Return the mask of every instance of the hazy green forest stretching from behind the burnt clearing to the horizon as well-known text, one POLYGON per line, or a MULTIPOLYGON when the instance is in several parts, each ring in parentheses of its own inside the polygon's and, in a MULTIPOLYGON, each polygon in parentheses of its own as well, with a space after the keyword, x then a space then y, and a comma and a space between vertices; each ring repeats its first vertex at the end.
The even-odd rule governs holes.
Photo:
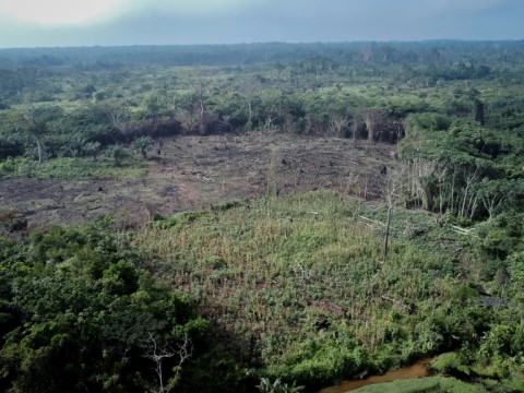
POLYGON ((1 159, 96 157, 107 145, 144 134, 252 129, 394 143, 404 133, 407 116, 421 112, 451 120, 473 118, 498 130, 519 130, 523 123, 520 41, 41 48, 2 53, 1 159), (237 52, 253 53, 255 60, 231 55, 237 52), (180 60, 184 53, 202 58, 180 60), (172 60, 164 63, 163 57, 172 60))

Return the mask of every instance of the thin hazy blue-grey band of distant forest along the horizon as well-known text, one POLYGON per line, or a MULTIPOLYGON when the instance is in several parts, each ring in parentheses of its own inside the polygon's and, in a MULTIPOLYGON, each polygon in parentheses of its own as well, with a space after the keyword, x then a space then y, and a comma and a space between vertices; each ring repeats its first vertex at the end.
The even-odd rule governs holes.
POLYGON ((360 41, 315 44, 235 44, 188 46, 128 46, 0 49, 0 67, 118 68, 122 66, 249 66, 290 63, 327 58, 338 66, 425 64, 450 62, 517 63, 524 57, 522 40, 511 41, 360 41))

